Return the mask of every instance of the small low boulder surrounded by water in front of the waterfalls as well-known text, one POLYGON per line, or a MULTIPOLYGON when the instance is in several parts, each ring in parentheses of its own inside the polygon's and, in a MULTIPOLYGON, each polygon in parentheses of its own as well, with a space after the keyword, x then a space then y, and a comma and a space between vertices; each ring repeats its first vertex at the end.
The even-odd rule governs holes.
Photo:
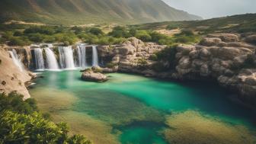
POLYGON ((89 82, 106 82, 107 75, 98 72, 100 69, 85 69, 85 72, 82 73, 82 80, 89 82))

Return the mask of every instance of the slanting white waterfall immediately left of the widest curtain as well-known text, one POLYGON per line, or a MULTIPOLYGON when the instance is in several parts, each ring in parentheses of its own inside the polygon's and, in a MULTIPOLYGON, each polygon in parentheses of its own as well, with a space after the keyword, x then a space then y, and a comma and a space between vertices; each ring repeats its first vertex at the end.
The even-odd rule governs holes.
POLYGON ((58 62, 56 60, 56 57, 53 53, 53 50, 51 50, 50 48, 45 48, 44 50, 46 52, 46 61, 47 61, 47 64, 48 64, 48 69, 58 70, 59 66, 58 66, 58 62))

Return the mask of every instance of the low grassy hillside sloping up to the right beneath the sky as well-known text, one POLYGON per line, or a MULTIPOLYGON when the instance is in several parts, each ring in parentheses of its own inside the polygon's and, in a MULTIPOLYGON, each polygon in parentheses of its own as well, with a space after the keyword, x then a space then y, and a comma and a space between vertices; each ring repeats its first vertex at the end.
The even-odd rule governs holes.
POLYGON ((166 21, 149 24, 137 24, 133 27, 142 30, 166 29, 168 26, 189 28, 204 33, 211 32, 256 32, 256 14, 239 14, 203 21, 166 21))

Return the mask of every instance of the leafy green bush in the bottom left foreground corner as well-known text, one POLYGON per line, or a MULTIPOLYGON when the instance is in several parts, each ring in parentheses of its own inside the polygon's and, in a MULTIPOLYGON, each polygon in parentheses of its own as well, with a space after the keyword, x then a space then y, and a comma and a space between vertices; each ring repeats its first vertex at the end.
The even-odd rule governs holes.
POLYGON ((66 123, 53 123, 41 114, 34 99, 20 94, 0 94, 0 143, 91 144, 82 135, 68 136, 66 123))

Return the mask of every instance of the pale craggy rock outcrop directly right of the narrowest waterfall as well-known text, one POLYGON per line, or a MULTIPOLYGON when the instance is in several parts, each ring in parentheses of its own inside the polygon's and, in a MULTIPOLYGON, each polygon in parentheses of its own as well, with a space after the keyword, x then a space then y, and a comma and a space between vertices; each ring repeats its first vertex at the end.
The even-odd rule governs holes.
POLYGON ((113 71, 140 73, 151 67, 153 61, 149 57, 165 47, 132 37, 120 45, 98 46, 98 51, 105 65, 113 71))

